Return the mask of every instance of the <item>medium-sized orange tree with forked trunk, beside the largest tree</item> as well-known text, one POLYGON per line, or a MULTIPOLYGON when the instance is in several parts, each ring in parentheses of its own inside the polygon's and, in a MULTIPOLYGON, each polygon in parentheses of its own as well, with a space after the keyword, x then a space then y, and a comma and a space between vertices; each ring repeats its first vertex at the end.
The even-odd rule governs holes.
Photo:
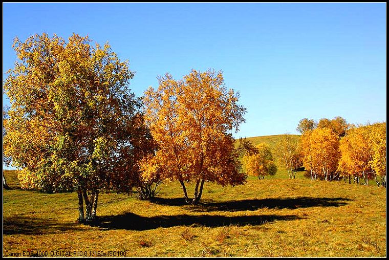
POLYGON ((200 200, 205 181, 243 184, 231 132, 244 122, 246 109, 225 88, 222 73, 192 70, 179 81, 169 74, 158 79, 158 89, 144 95, 146 123, 159 146, 142 165, 145 179, 159 174, 178 180, 187 202, 185 181, 195 181, 192 203, 200 200))

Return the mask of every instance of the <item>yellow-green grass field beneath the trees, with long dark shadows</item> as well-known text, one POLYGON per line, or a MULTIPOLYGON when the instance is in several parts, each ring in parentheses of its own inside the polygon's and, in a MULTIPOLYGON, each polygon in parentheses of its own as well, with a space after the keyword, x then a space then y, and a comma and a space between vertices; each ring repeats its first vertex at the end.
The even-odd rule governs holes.
MULTIPOLYGON (((154 257, 385 257, 386 189, 344 182, 250 177, 206 183, 200 205, 185 205, 178 183, 154 202, 102 194, 95 226, 78 224, 77 194, 21 190, 5 171, 3 256, 30 250, 125 251, 154 257)), ((192 193, 193 187, 188 189, 192 193)), ((89 255, 88 255, 89 256, 89 255)))

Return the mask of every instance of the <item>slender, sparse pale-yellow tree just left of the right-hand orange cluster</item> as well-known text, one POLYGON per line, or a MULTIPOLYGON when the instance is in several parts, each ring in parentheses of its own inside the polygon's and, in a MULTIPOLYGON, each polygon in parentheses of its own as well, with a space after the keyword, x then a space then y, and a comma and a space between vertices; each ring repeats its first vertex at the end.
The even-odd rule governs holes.
POLYGON ((295 179, 297 169, 301 167, 297 140, 293 140, 288 133, 280 137, 275 148, 275 155, 278 158, 279 165, 285 166, 288 171, 289 179, 295 179))

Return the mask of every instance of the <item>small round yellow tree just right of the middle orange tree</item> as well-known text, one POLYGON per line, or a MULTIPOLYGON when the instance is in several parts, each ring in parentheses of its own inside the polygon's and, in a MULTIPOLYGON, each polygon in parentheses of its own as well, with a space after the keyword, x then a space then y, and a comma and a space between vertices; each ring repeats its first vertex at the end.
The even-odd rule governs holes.
POLYGON ((245 155, 243 161, 246 165, 248 175, 256 176, 258 179, 265 179, 267 175, 275 175, 277 166, 274 163, 273 154, 269 145, 265 143, 256 146, 257 153, 245 155))

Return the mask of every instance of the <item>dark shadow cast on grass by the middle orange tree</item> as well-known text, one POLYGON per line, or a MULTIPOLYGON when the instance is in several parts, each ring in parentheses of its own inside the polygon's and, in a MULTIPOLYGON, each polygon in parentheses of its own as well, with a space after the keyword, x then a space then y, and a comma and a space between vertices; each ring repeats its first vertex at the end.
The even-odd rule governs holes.
POLYGON ((159 205, 168 206, 183 206, 187 205, 188 210, 194 212, 211 212, 211 211, 254 211, 260 208, 270 209, 297 209, 309 207, 339 207, 347 205, 347 201, 352 201, 348 198, 285 198, 285 199, 253 199, 253 200, 237 200, 226 202, 210 202, 203 201, 197 205, 188 205, 184 199, 174 198, 155 198, 152 202, 159 205))

